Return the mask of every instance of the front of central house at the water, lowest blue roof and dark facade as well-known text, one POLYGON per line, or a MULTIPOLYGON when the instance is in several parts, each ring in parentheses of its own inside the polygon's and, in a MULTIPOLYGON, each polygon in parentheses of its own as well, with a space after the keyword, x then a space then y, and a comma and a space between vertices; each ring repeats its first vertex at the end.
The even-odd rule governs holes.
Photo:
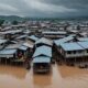
POLYGON ((51 58, 38 56, 33 59, 34 73, 48 73, 51 70, 51 58))

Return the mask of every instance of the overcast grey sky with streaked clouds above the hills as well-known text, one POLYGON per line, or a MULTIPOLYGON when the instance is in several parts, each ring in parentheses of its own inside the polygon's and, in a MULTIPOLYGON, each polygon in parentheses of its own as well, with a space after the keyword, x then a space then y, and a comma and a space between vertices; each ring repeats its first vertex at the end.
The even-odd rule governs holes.
POLYGON ((0 15, 88 15, 88 0, 0 0, 0 15))

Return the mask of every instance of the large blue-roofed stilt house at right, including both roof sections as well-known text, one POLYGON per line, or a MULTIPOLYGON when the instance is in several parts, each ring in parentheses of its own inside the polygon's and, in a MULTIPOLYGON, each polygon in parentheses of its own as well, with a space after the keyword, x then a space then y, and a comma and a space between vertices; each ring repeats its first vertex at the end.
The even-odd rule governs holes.
POLYGON ((88 42, 73 42, 61 45, 61 55, 66 64, 78 64, 88 62, 88 42))

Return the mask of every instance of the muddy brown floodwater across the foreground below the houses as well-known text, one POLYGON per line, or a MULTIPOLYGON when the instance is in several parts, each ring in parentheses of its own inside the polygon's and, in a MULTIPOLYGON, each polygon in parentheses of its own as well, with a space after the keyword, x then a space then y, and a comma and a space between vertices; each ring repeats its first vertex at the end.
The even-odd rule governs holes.
POLYGON ((88 88, 88 69, 53 65, 50 75, 34 75, 32 68, 0 65, 0 88, 88 88))

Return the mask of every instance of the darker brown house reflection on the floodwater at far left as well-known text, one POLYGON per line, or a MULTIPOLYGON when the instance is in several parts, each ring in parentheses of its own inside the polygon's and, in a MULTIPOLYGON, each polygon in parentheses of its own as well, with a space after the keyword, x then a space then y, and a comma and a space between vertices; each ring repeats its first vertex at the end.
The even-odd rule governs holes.
POLYGON ((0 75, 12 76, 18 79, 24 79, 26 77, 28 70, 22 67, 14 66, 3 66, 0 65, 0 75))

